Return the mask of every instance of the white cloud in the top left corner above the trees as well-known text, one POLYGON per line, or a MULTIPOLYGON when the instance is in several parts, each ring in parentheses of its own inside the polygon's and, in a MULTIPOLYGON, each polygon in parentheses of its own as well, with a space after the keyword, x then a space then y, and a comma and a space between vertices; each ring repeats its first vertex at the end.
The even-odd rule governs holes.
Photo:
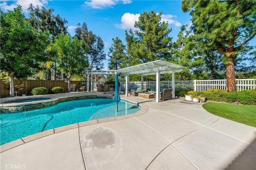
POLYGON ((13 2, 14 3, 12 3, 12 4, 7 4, 6 1, 2 2, 1 9, 2 10, 13 10, 14 8, 17 7, 17 5, 20 5, 20 6, 22 6, 22 10, 24 12, 28 12, 27 9, 28 9, 29 4, 33 4, 33 6, 39 6, 39 7, 48 4, 47 0, 16 0, 13 2))

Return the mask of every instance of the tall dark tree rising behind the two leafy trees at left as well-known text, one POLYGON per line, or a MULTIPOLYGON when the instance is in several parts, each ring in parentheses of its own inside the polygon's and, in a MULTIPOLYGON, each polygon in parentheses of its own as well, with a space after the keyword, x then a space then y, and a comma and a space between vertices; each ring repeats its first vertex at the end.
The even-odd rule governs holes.
MULTIPOLYGON (((53 14, 54 9, 46 9, 44 6, 33 6, 30 4, 28 8, 28 21, 38 31, 50 32, 50 38, 54 43, 58 34, 67 34, 67 28, 65 26, 68 23, 65 18, 62 19, 60 15, 53 14)), ((48 48, 51 49, 51 48, 48 48)), ((54 70, 54 80, 56 78, 56 55, 51 55, 52 51, 49 51, 48 61, 45 63, 45 67, 48 69, 47 79, 51 79, 51 70, 54 70)))

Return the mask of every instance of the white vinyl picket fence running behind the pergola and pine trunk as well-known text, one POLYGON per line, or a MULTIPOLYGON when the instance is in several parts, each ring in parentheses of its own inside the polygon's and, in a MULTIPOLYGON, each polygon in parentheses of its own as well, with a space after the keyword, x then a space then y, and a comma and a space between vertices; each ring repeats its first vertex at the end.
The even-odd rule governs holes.
MULTIPOLYGON (((209 91, 211 89, 226 90, 227 80, 188 80, 188 81, 175 81, 175 91, 180 90, 194 90, 194 91, 209 91)), ((129 82, 129 88, 141 88, 140 81, 129 82)), ((156 87, 156 81, 144 81, 143 88, 151 89, 156 87)), ((172 81, 160 81, 160 87, 172 88, 172 81)), ((252 90, 256 89, 256 79, 236 79, 236 90, 252 90)), ((125 91, 125 82, 120 82, 120 90, 125 91)))

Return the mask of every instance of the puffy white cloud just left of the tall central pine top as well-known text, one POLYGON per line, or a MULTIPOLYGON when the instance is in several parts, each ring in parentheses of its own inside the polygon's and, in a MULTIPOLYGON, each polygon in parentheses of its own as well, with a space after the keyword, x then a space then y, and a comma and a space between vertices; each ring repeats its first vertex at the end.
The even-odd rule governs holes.
POLYGON ((124 13, 121 18, 121 24, 115 24, 117 28, 121 28, 123 30, 132 29, 135 30, 134 23, 138 21, 140 14, 131 14, 131 13, 124 13))

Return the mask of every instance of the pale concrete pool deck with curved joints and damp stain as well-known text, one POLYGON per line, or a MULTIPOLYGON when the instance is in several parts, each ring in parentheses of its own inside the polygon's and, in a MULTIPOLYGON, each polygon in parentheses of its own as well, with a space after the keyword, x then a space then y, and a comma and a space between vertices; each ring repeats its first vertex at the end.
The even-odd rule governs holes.
MULTIPOLYGON (((92 93, 97 92, 87 94, 92 93)), ((48 130, 10 149, 2 145, 1 170, 256 169, 256 128, 212 115, 203 103, 184 98, 156 103, 120 97, 141 103, 146 113, 48 130)))

